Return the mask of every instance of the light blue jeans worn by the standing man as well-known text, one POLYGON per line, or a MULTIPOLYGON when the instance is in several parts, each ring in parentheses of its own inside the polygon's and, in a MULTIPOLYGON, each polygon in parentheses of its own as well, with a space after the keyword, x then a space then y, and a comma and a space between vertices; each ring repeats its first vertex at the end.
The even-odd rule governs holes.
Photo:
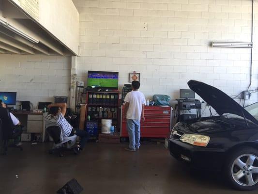
POLYGON ((140 146, 140 120, 127 119, 127 132, 129 135, 129 148, 140 146))

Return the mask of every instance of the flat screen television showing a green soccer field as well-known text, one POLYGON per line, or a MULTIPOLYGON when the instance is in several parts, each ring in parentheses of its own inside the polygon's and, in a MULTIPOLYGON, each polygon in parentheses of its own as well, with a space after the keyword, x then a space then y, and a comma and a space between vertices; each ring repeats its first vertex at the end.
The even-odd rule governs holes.
POLYGON ((88 71, 87 87, 95 89, 118 89, 118 72, 88 71))

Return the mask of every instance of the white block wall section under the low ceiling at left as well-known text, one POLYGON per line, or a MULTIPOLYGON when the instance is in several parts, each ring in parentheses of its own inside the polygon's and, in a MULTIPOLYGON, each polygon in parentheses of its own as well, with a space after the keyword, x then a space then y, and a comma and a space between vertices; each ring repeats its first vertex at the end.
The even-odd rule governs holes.
POLYGON ((36 109, 39 101, 69 96, 70 72, 71 57, 1 54, 0 91, 17 92, 36 109))

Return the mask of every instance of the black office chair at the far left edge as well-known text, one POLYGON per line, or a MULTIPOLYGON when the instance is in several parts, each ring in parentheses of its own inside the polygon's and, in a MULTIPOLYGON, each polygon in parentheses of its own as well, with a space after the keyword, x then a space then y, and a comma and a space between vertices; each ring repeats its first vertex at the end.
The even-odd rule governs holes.
POLYGON ((8 147, 16 147, 21 151, 23 150, 21 146, 16 146, 15 143, 8 144, 10 139, 15 139, 17 136, 21 135, 21 133, 16 132, 9 111, 6 108, 0 108, 0 131, 3 142, 3 155, 7 155, 8 147))

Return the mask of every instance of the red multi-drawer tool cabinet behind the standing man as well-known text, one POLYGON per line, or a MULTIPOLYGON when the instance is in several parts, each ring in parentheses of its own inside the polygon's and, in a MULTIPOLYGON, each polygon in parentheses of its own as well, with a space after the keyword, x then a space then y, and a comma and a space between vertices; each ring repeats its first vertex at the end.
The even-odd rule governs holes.
MULTIPOLYGON (((172 107, 145 106, 145 121, 141 122, 141 137, 165 138, 172 125, 172 107)), ((124 106, 121 106, 121 137, 128 137, 126 119, 123 118, 124 106)))

